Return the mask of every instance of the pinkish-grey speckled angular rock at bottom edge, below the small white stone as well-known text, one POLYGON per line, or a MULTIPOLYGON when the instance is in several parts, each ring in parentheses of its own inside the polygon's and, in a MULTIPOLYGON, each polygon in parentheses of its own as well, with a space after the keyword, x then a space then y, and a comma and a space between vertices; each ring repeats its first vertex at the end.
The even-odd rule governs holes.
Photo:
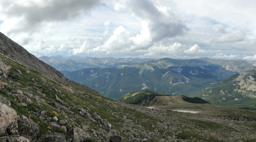
POLYGON ((88 141, 90 135, 79 127, 73 128, 73 142, 88 141))

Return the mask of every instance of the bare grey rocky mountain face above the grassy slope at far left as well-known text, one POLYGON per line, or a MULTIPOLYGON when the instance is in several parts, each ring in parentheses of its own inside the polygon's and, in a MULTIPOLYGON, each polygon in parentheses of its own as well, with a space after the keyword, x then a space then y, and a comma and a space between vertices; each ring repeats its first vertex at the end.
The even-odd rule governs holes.
POLYGON ((7 36, 0 32, 0 50, 9 54, 16 60, 22 61, 32 68, 35 68, 43 73, 49 74, 57 78, 65 78, 60 72, 56 71, 53 67, 45 62, 37 59, 34 55, 27 52, 22 46, 9 39, 7 36))

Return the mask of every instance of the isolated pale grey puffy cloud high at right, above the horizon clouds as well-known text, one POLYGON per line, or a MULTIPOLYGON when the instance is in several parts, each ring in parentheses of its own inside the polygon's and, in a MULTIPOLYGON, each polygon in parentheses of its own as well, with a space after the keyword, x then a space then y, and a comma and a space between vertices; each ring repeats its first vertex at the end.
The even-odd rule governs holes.
POLYGON ((212 39, 215 43, 234 43, 243 41, 246 32, 241 29, 235 29, 233 31, 226 31, 221 25, 215 25, 216 37, 212 39))

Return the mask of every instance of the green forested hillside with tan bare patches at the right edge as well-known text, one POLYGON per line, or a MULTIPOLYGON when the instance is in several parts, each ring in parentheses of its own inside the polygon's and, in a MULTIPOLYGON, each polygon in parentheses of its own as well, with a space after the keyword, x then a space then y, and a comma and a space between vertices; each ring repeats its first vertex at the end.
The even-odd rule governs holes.
POLYGON ((240 72, 191 96, 201 97, 220 106, 255 109, 256 70, 240 72))

